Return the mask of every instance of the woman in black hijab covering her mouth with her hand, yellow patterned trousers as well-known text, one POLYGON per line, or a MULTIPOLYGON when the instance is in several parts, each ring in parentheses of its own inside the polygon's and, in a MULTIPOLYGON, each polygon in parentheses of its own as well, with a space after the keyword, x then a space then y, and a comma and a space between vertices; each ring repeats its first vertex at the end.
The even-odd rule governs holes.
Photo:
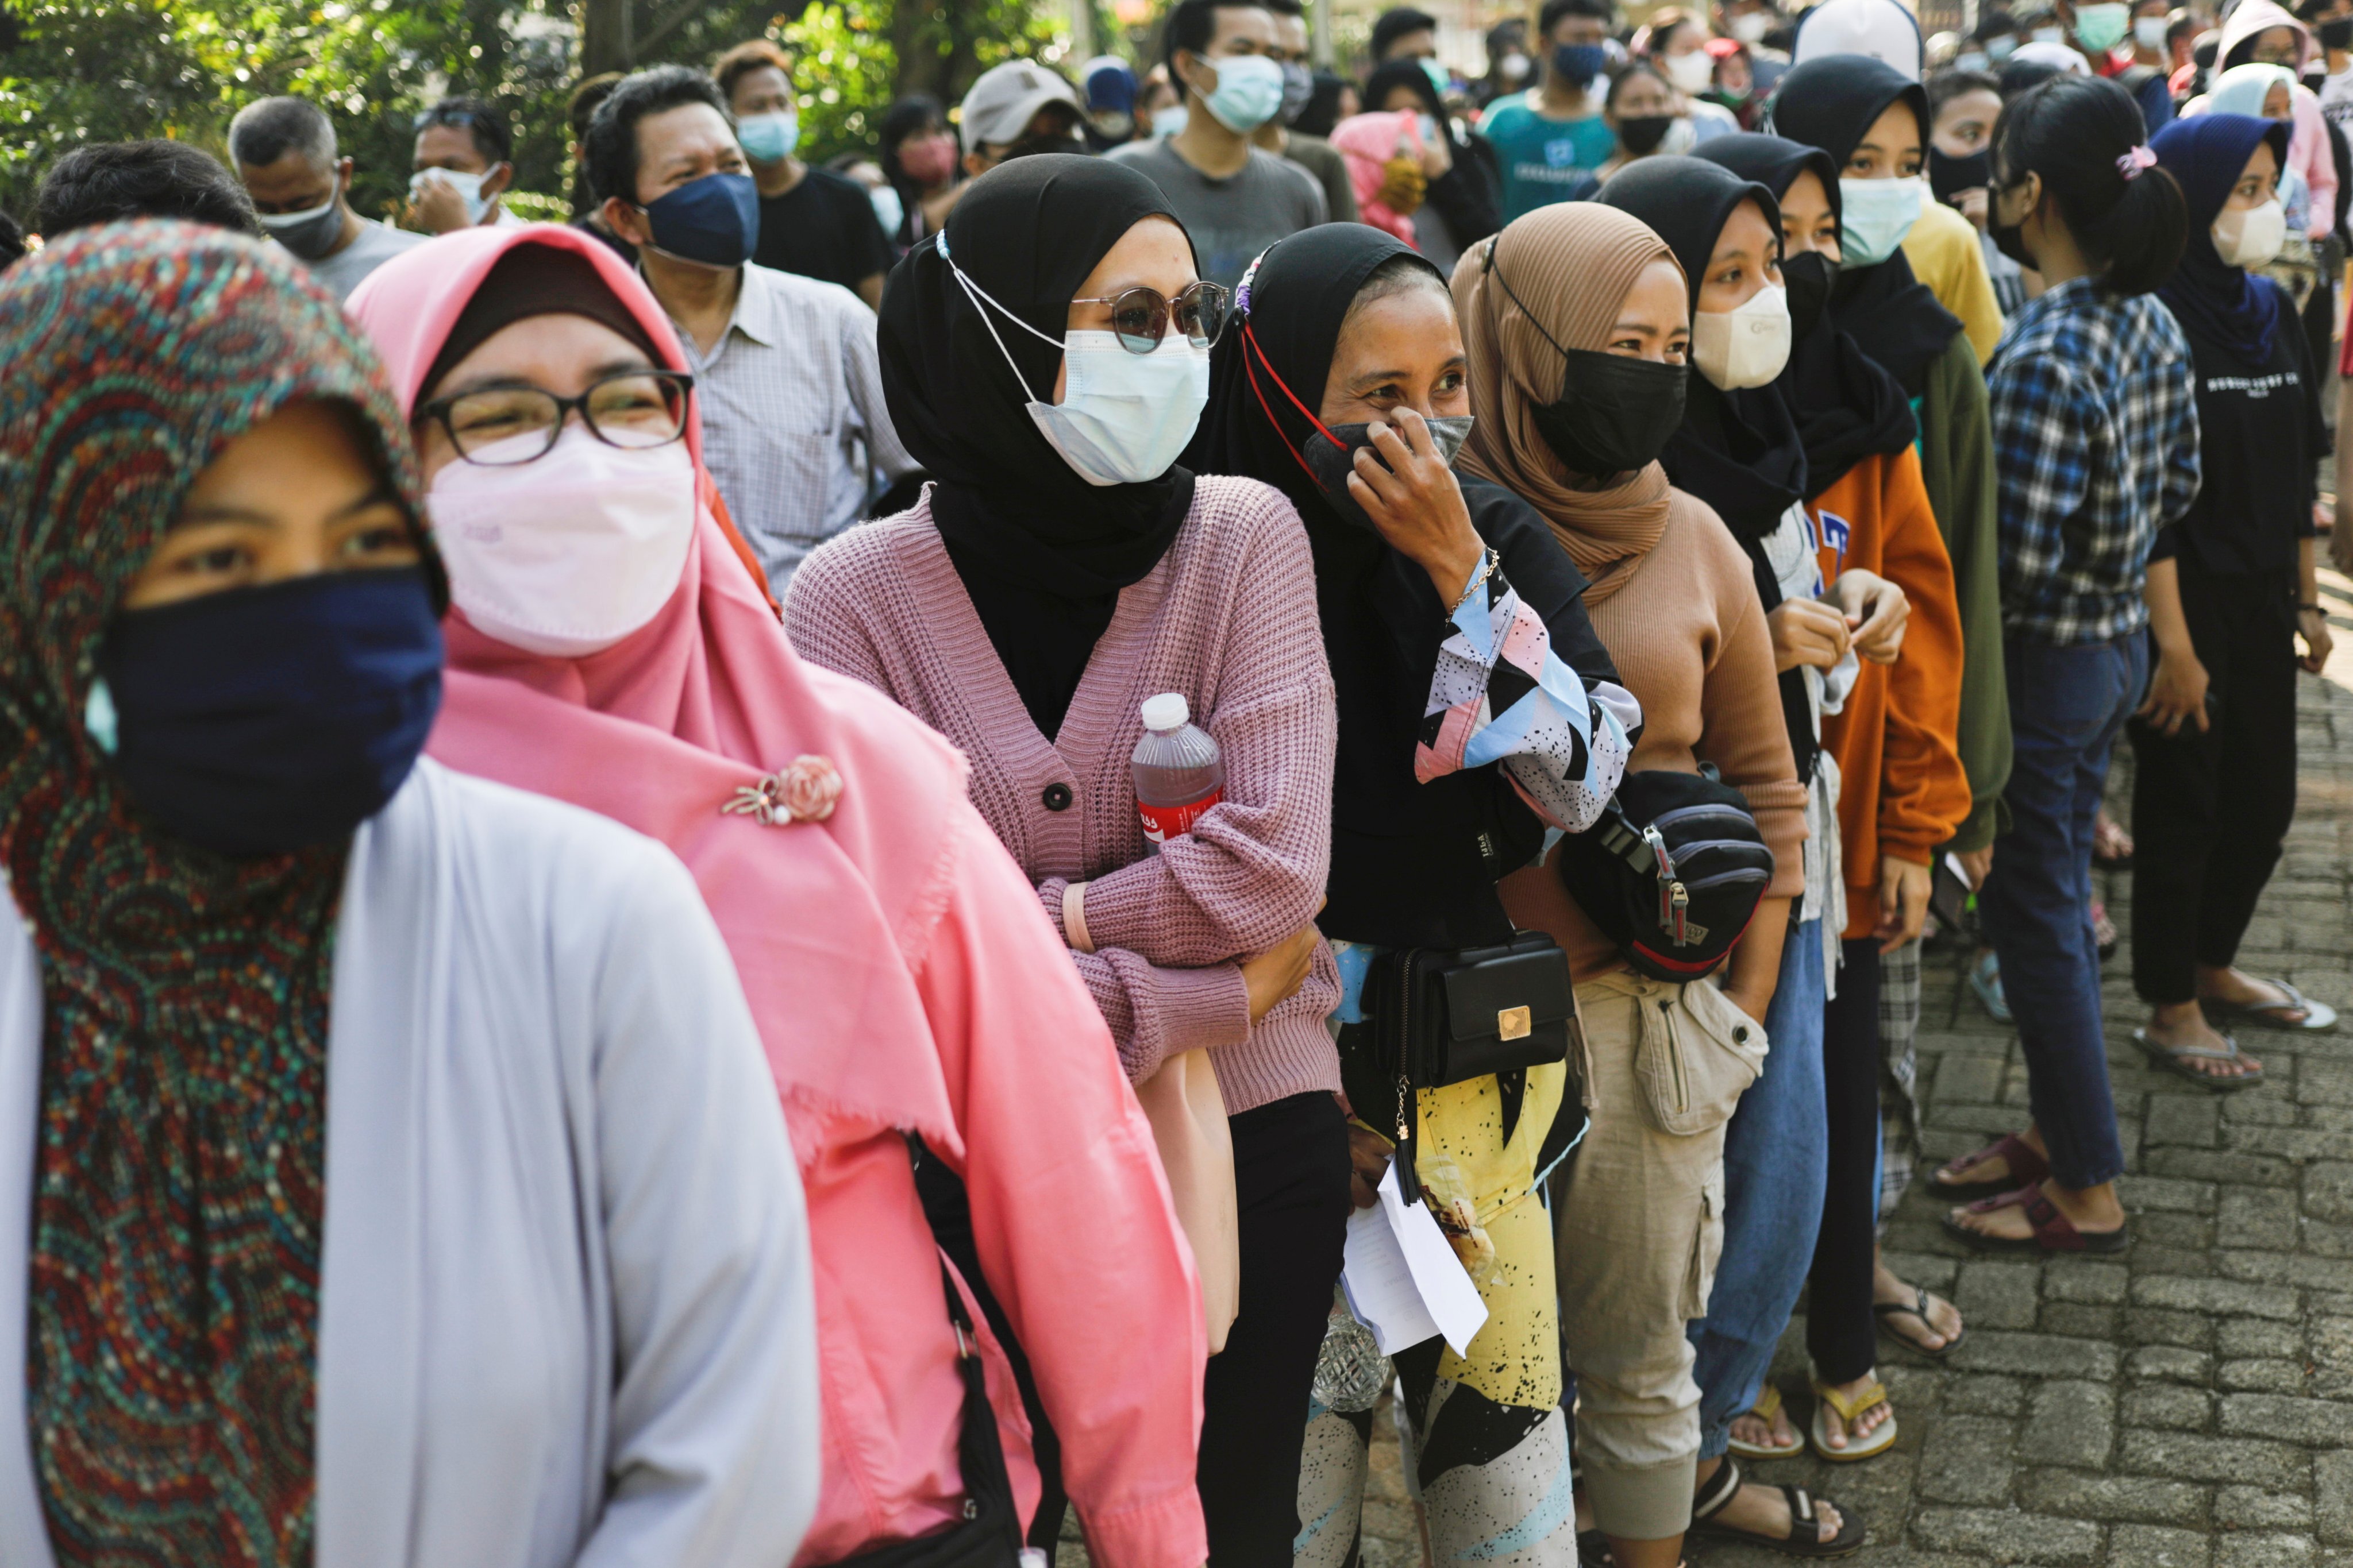
MULTIPOLYGON (((1384 1107, 1395 1088, 1360 1072, 1384 1025, 1367 971, 1384 952, 1513 940, 1497 877, 1527 865, 1548 827, 1593 825, 1640 712, 1579 604, 1584 578, 1544 520, 1447 465, 1473 421, 1438 268, 1374 228, 1327 223, 1259 256, 1242 294, 1240 320, 1217 346, 1202 465, 1287 494, 1315 557, 1341 712, 1318 926, 1348 978, 1341 1053, 1360 1091, 1348 1135, 1362 1173, 1355 1199, 1372 1206, 1391 1159, 1395 1117, 1384 1107), (1454 738, 1440 757, 1424 736, 1447 712, 1466 722, 1447 724, 1454 738)), ((1565 1084, 1555 1060, 1414 1091, 1419 1159, 1400 1175, 1417 1168, 1421 1187, 1445 1199, 1447 1222, 1466 1222, 1492 1248, 1478 1272, 1487 1321, 1464 1352, 1428 1340, 1395 1356, 1438 1561, 1480 1552, 1501 1530, 1518 1547, 1485 1549, 1489 1561, 1572 1552, 1544 1201, 1544 1173, 1584 1126, 1565 1084)), ((1369 1408, 1318 1418, 1304 1563, 1348 1559, 1369 1434, 1369 1408)))

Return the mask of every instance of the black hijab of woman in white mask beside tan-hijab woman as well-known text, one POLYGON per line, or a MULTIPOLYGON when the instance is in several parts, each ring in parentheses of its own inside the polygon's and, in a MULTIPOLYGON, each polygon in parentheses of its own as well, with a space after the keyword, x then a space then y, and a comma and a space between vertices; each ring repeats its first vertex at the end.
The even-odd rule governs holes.
MULTIPOLYGON (((1642 219, 1666 240, 1692 284, 1694 317, 1708 259, 1715 256, 1715 242, 1741 202, 1755 202, 1774 235, 1781 233, 1781 202, 1769 186, 1699 158, 1633 162, 1602 186, 1595 200, 1642 219)), ((1692 369, 1682 425, 1668 437, 1659 461, 1675 489, 1715 508, 1741 541, 1765 609, 1781 604, 1781 578, 1765 555, 1765 541, 1781 527, 1788 508, 1807 496, 1807 465, 1798 421, 1779 386, 1725 393, 1692 369)), ((1819 748, 1802 670, 1781 672, 1781 722, 1788 729, 1798 778, 1809 780, 1819 748)))

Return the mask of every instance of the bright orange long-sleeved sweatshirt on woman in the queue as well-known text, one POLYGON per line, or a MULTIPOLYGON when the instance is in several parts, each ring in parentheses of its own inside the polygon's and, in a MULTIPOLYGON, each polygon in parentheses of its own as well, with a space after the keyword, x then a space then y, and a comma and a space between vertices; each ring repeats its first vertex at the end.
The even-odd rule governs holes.
POLYGON ((1807 501, 1821 578, 1878 571, 1911 599, 1904 654, 1866 663, 1847 705, 1821 722, 1838 757, 1838 835, 1847 863, 1847 938, 1880 919, 1880 856, 1934 865, 1969 816, 1960 766, 1960 609, 1953 562, 1920 484, 1920 454, 1864 458, 1807 501))

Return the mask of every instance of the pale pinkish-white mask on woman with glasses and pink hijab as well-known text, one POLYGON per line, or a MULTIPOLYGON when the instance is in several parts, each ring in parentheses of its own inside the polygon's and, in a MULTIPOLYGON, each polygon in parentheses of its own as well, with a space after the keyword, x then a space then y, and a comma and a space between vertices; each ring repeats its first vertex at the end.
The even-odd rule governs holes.
POLYGON ((449 597, 475 628, 527 654, 581 658, 642 628, 678 592, 694 538, 694 458, 685 442, 607 447, 572 423, 534 463, 449 463, 426 515, 449 597))

